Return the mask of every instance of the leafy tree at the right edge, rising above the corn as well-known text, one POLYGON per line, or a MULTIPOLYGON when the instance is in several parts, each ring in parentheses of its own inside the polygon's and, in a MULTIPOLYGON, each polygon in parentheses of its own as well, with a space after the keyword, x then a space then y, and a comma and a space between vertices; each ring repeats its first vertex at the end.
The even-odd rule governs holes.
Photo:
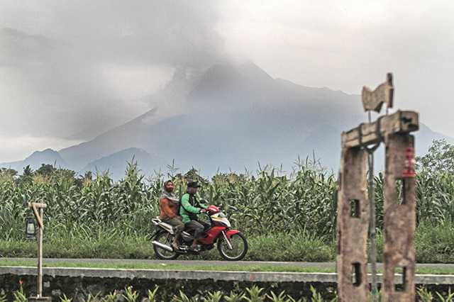
POLYGON ((416 157, 416 167, 428 172, 454 172, 454 145, 446 140, 433 140, 428 153, 416 157))

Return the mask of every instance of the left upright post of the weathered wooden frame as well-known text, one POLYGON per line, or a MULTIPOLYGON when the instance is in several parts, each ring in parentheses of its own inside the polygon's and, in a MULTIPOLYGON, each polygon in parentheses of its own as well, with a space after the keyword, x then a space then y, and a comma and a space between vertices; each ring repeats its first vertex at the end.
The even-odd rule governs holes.
POLYGON ((343 148, 338 191, 338 295, 339 301, 367 301, 367 152, 343 148))

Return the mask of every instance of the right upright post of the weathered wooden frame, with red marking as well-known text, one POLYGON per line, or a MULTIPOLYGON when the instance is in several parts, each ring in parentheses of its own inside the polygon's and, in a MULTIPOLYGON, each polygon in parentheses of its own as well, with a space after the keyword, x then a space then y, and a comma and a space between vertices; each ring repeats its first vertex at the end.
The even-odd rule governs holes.
POLYGON ((414 136, 388 135, 384 179, 383 301, 415 301, 414 136), (399 276, 394 284, 394 276, 399 276), (401 283, 401 284, 399 284, 401 283))

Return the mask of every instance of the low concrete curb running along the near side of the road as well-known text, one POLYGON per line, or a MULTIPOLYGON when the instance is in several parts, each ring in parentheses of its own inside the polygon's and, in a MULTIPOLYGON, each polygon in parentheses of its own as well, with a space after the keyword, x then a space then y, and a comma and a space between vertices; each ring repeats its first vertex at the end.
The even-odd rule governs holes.
MULTIPOLYGON (((0 275, 35 276, 35 267, 0 267, 0 275)), ((252 282, 321 282, 336 283, 336 273, 300 272, 228 272, 228 271, 182 271, 160 269, 93 269, 45 267, 43 274, 69 277, 120 278, 120 279, 180 279, 252 282)), ((381 279, 381 274, 379 274, 381 279)), ((396 279, 397 283, 399 279, 396 279)), ((417 274, 416 284, 454 285, 454 275, 417 274)))

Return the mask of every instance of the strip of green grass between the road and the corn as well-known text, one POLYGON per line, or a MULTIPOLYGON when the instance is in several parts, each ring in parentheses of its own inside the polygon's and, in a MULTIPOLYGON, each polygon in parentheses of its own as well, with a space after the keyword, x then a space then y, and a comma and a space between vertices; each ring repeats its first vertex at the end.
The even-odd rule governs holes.
MULTIPOLYGON (((421 223, 416 228, 415 247, 418 263, 454 263, 454 225, 421 223)), ((45 234, 46 236, 47 234, 45 234)), ((333 262, 336 259, 336 242, 323 240, 310 233, 270 233, 248 235, 249 250, 246 261, 277 262, 333 262)), ((48 258, 105 258, 155 259, 147 235, 123 235, 104 229, 96 233, 60 232, 45 237, 44 255, 48 258)), ((377 235, 378 261, 382 261, 383 235, 377 235)), ((0 240, 3 257, 35 257, 36 242, 28 240, 0 240)), ((179 259, 218 260, 216 247, 199 256, 179 259)))

